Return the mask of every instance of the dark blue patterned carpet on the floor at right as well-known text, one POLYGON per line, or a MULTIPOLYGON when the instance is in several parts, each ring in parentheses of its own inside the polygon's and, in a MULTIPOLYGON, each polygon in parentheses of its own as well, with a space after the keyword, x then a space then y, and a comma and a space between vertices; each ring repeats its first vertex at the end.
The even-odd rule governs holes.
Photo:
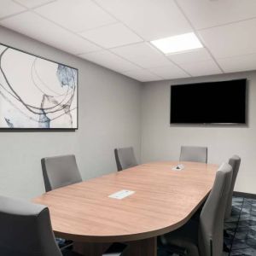
MULTIPOLYGON (((256 256, 256 200, 233 197, 231 217, 224 223, 230 253, 223 256, 256 256)), ((159 248, 158 256, 174 256, 159 248)))

